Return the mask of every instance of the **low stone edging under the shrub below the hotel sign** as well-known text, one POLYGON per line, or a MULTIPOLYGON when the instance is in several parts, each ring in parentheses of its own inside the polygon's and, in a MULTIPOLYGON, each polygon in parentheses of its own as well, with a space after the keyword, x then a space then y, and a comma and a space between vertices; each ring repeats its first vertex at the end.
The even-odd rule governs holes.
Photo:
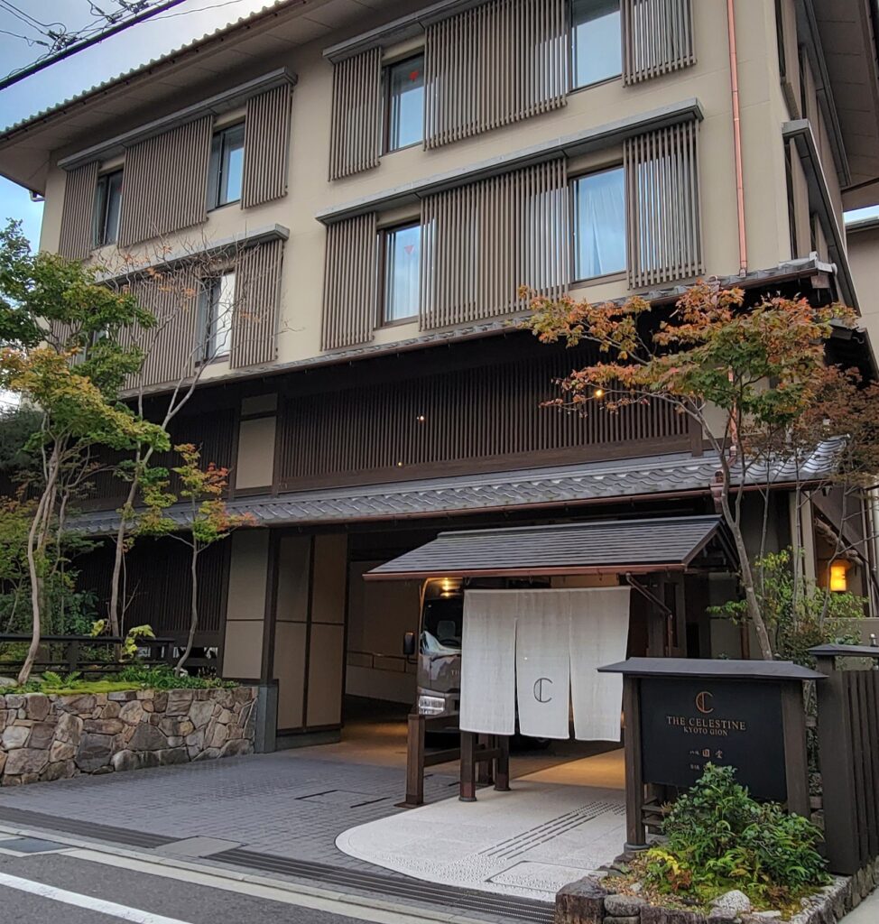
MULTIPOLYGON (((836 924, 879 886, 879 860, 856 876, 836 877, 809 899, 790 924, 836 924)), ((752 911, 746 895, 728 892, 712 902, 710 914, 661 908, 641 896, 615 894, 602 879, 587 877, 555 896, 555 924, 773 924, 777 911, 752 911)))

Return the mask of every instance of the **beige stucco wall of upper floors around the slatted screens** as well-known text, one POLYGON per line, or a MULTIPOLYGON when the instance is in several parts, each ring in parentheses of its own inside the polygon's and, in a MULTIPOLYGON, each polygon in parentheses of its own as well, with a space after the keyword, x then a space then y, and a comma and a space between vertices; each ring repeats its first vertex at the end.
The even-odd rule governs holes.
MULTIPOLYGON (((657 107, 681 103, 696 97, 705 119, 700 132, 702 214, 705 268, 708 274, 734 274, 739 269, 736 220, 736 187, 732 146, 726 5, 694 3, 697 64, 662 78, 633 87, 621 79, 576 91, 568 105, 552 113, 535 116, 507 128, 500 128, 468 140, 425 152, 420 147, 386 154, 380 166, 336 182, 327 179, 330 136, 330 98, 333 68, 322 55, 324 47, 366 31, 423 3, 398 4, 380 17, 364 10, 357 30, 339 32, 319 43, 303 45, 287 55, 251 64, 247 76, 264 73, 280 64, 298 75, 293 94, 290 134, 289 193, 284 199, 242 211, 238 205, 215 210, 206 223, 168 241, 170 246, 195 247, 265 225, 284 225, 290 230, 285 248, 283 305, 279 359, 305 359, 319 353, 323 291, 324 226, 315 213, 330 206, 353 201, 409 181, 446 171, 499 154, 514 152, 532 144, 553 140, 581 129, 601 126, 626 116, 657 107)), ((787 197, 784 151, 780 138, 782 122, 789 118, 779 84, 775 47, 775 6, 772 0, 738 0, 739 81, 742 137, 744 143, 745 208, 751 268, 775 266, 789 256, 787 197)), ((390 46, 385 55, 399 49, 390 46)), ((229 75, 229 84, 242 75, 229 75)), ((217 91, 219 87, 213 88, 217 91)), ((179 103, 188 102, 180 99, 179 103)), ((148 117, 160 115, 152 111, 148 117)), ((118 130, 107 126, 107 136, 118 130)), ((93 144, 90 137, 83 144, 93 144)), ((57 152, 59 156, 75 150, 57 152)), ((617 159, 617 152, 591 157, 593 164, 617 159)), ((55 169, 49 178, 42 246, 55 249, 59 234, 59 213, 63 199, 63 178, 55 169)), ((154 249, 154 244, 142 249, 154 249)), ((526 282, 527 280, 522 280, 526 282)), ((575 294, 604 299, 625 296, 624 281, 585 286, 575 294)), ((391 343, 418 333, 417 324, 404 324, 376 332, 376 343, 391 343)), ((212 366, 206 378, 222 376, 223 364, 212 366)))

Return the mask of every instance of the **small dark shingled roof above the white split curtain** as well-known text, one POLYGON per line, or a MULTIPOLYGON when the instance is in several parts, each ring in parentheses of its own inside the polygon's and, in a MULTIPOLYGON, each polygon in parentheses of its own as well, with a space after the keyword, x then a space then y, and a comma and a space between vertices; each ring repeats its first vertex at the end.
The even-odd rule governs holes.
POLYGON ((402 580, 683 571, 720 529, 720 517, 664 517, 443 532, 363 577, 402 580))

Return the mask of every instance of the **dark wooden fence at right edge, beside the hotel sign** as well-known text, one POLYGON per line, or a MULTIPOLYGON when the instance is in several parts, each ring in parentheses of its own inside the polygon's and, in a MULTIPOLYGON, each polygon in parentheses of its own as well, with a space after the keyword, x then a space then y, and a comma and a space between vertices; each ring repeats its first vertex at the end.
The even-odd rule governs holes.
POLYGON ((812 649, 818 670, 818 755, 832 872, 879 857, 879 648, 812 649))

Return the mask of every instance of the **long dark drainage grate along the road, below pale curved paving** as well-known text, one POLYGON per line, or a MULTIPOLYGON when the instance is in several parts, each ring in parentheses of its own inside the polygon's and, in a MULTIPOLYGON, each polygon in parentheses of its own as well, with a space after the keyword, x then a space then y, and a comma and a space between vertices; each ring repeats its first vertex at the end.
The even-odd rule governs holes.
POLYGON ((477 892, 471 889, 455 889, 435 882, 406 878, 392 879, 358 869, 327 866, 308 860, 294 860, 274 857, 252 850, 226 850, 214 854, 214 862, 235 866, 262 869, 265 872, 283 873, 299 879, 317 880, 325 885, 336 885, 347 889, 382 894, 385 897, 404 898, 427 905, 455 908, 458 911, 473 911, 510 921, 529 921, 530 924, 551 924, 555 906, 549 902, 538 902, 527 898, 477 892))

